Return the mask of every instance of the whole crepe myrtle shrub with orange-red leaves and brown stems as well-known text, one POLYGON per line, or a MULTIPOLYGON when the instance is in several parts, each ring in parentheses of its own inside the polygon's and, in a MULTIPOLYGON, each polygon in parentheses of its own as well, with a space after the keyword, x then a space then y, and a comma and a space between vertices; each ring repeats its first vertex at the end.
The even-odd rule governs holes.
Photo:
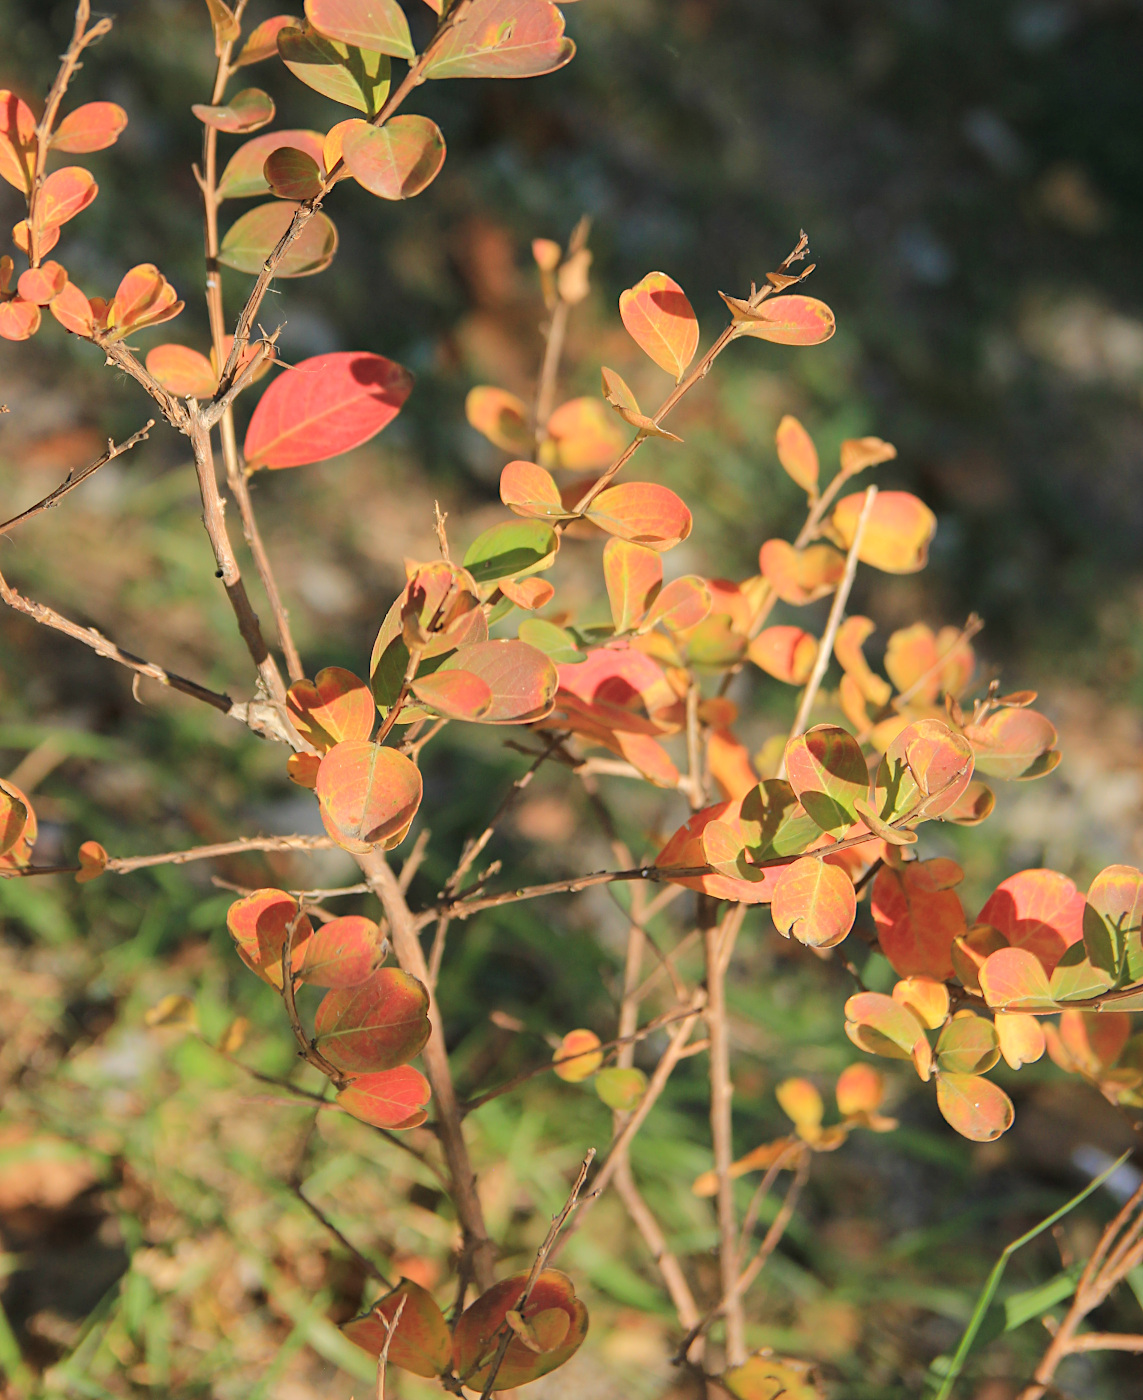
MULTIPOLYGON (((157 263, 127 269, 105 297, 81 290, 52 256, 64 225, 97 196, 91 174, 67 162, 113 144, 127 122, 113 102, 66 104, 81 57, 111 21, 92 24, 88 0, 80 0, 46 99, 0 92, 0 176, 27 200, 27 217, 13 230, 15 256, 0 258, 0 335, 35 336, 46 311, 134 379, 155 413, 3 528, 11 533, 56 505, 162 419, 190 445, 212 567, 249 651, 252 692, 234 700, 136 657, 3 577, 0 596, 126 666, 136 683, 168 686, 280 745, 284 770, 312 791, 326 832, 237 833, 233 841, 158 855, 109 855, 85 841, 76 865, 49 867, 35 860, 31 801, 0 783, 0 874, 67 869, 83 883, 240 850, 336 846, 353 855, 360 883, 319 893, 247 890, 227 923, 242 962, 280 993, 298 1054, 331 1081, 338 1109, 385 1133, 430 1121, 419 1141, 429 1142, 424 1151, 450 1183, 459 1226, 457 1289, 445 1315, 430 1292, 403 1280, 346 1326, 380 1358, 380 1387, 387 1364, 437 1376, 457 1394, 483 1396, 564 1364, 588 1322, 574 1281, 552 1264, 569 1231, 614 1187, 677 1310, 679 1364, 719 1378, 744 1400, 814 1396, 817 1380, 805 1365, 748 1354, 747 1292, 796 1210, 815 1154, 839 1149, 856 1130, 888 1131, 894 1121, 881 1113, 881 1072, 860 1058, 833 1086, 835 1121, 825 1121, 818 1085, 787 1079, 777 1099, 791 1131, 735 1159, 726 981, 747 909, 766 906, 775 937, 843 960, 859 990, 839 1018, 856 1049, 910 1064, 933 1084, 952 1130, 989 1141, 1013 1121, 1011 1100, 988 1078, 1002 1057, 1016 1070, 1046 1049, 1112 1102, 1143 1107, 1143 1037, 1132 1035, 1130 1022, 1143 1009, 1143 875, 1114 865, 1084 893, 1062 874, 1023 871, 969 917, 957 892, 961 868, 922 854, 926 823, 983 822, 993 808, 990 783, 1037 778, 1060 755, 1051 722, 1031 708, 1034 694, 1002 694, 997 683, 975 680, 975 617, 960 629, 903 627, 888 638, 884 675, 867 662, 863 647, 874 622, 847 612, 859 567, 912 574, 924 567, 936 529, 916 496, 857 483, 896 455, 891 444, 877 437, 843 442, 836 470, 824 480, 810 435, 784 417, 777 458, 805 493, 797 536, 761 542, 749 578, 664 580, 663 556, 691 533, 691 512, 668 487, 639 480, 635 459, 653 438, 667 451, 679 441, 665 426, 674 407, 738 342, 812 347, 833 335, 831 309, 800 290, 812 272, 804 234, 749 291, 721 294, 728 321, 702 353, 695 312, 670 276, 651 272, 622 294, 623 326, 665 375, 653 410, 608 367, 600 396, 557 402, 569 316, 587 295, 591 255, 586 225, 567 246, 538 239, 532 252, 546 322, 535 395, 525 403, 483 385, 466 402, 471 424, 507 458, 504 519, 457 559, 438 512, 440 557, 406 563, 405 587, 360 673, 324 666, 321 657, 303 662, 258 529, 249 476, 301 468, 373 438, 401 412, 413 377, 364 351, 283 367, 277 332, 255 329, 263 298, 276 279, 319 273, 333 259, 338 232, 325 204, 340 181, 388 200, 431 185, 445 158, 444 136, 429 118, 405 111, 423 83, 539 76, 574 53, 549 0, 426 3, 431 14, 412 0, 406 7, 305 0, 304 18, 277 15, 247 32, 245 0, 206 0, 217 73, 206 101, 192 108, 203 140, 195 178, 205 216, 205 346, 169 342, 140 357, 129 344, 182 309, 157 263), (424 35, 420 49, 413 32, 424 35), (277 62, 331 99, 328 130, 254 134, 273 122, 275 104, 240 84, 248 67, 277 62), (235 202, 251 199, 252 209, 231 216, 235 202), (252 279, 237 316, 227 315, 220 266, 252 279), (262 389, 240 448, 235 400, 272 371, 277 375, 262 389), (269 638, 238 566, 223 491, 237 505, 269 601, 269 638), (548 578, 572 536, 600 545, 597 577, 611 612, 605 626, 563 608, 548 578), (821 636, 770 622, 779 602, 797 609, 826 598, 821 636), (840 679, 826 690, 831 662, 840 679), (756 755, 735 732, 738 707, 728 697, 742 671, 791 696, 789 734, 756 755), (417 907, 409 889, 427 834, 401 868, 391 853, 422 809, 420 757, 448 724, 513 727, 525 739, 513 746, 527 750, 531 764, 466 840, 437 896, 417 907), (545 764, 583 784, 615 853, 614 868, 529 888, 501 881, 496 865, 478 872, 497 825, 545 764), (600 774, 678 795, 678 829, 651 858, 636 860, 616 834, 600 774), (602 1042, 591 1029, 573 1028, 553 1061, 532 1071, 553 1070, 569 1085, 590 1082, 614 1110, 612 1138, 597 1165, 588 1155, 532 1268, 499 1278, 464 1120, 518 1079, 459 1102, 436 1000, 445 941, 452 925, 480 910, 612 882, 630 885, 614 1035, 602 1042), (375 899, 375 917, 336 916, 328 907, 340 895, 360 893, 375 899), (871 918, 854 931, 863 900, 871 918), (674 918, 668 927, 677 934, 665 955, 647 932, 658 916, 674 918), (866 945, 880 949, 898 979, 889 994, 861 984, 853 958, 866 945), (850 948, 857 953, 850 956, 850 948), (689 949, 705 958, 699 984, 681 972, 689 949), (326 990, 310 1026, 297 1005, 303 983, 326 990), (656 1032, 665 1035, 665 1049, 646 1074, 635 1065, 635 1049, 656 1032), (713 1294, 709 1277, 689 1275, 672 1252, 629 1161, 632 1140, 671 1072, 695 1054, 709 1065, 713 1166, 693 1190, 714 1200, 713 1294), (423 1070, 413 1065, 417 1058, 423 1070), (733 1183, 752 1172, 763 1175, 740 1218, 733 1183), (755 1243, 762 1201, 783 1172, 784 1204, 755 1243), (475 1299, 465 1306, 471 1291, 475 1299), (707 1336, 713 1326, 717 1344, 707 1336)), ((233 1057, 240 1046, 241 1032, 231 1030, 217 1049, 233 1057)))

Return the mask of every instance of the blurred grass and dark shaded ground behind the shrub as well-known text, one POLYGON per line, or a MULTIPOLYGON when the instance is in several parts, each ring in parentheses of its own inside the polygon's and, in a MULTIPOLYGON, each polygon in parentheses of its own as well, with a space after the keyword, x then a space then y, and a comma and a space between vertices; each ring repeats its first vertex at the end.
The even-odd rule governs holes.
MULTIPOLYGON (((206 6, 101 8, 115 28, 71 97, 116 101, 130 125, 116 147, 84 158, 101 197, 67 227, 60 256, 102 295, 132 265, 158 262, 188 305, 140 336, 141 349, 174 339, 206 350, 190 172, 200 129, 189 113, 213 77, 206 6)), ((275 10, 251 0, 248 15, 275 10)), ((409 11, 415 25, 429 20, 423 6, 409 11)), ((69 4, 0 0, 0 85, 45 92, 70 24, 69 4)), ((436 553, 434 498, 461 543, 501 518, 504 455, 468 427, 464 396, 479 382, 531 392, 542 319, 532 238, 563 241, 580 216, 593 220, 593 294, 573 319, 563 396, 597 392, 607 363, 656 402, 663 375, 625 336, 619 291, 668 272, 709 339, 724 319, 717 293, 745 294, 805 228, 818 265, 808 290, 833 307, 838 335, 803 351, 735 346, 672 420, 685 447, 644 449, 695 511, 671 567, 741 578, 756 571, 762 540, 797 529, 798 493, 773 452, 783 413, 807 424, 826 469, 846 437, 895 442, 899 458, 878 480, 923 496, 938 532, 926 573, 859 580, 856 609, 878 620, 881 645, 916 619, 937 627, 979 612, 982 676, 1038 689, 1065 750, 1052 777, 1002 791, 986 827, 940 837, 967 869, 969 913, 1024 867, 1086 883, 1112 861, 1137 864, 1143 6, 581 0, 567 24, 579 55, 555 76, 422 88, 413 109, 448 140, 440 178, 406 204, 339 186, 333 266, 279 283, 265 304, 290 360, 361 349, 417 375, 374 444, 255 479, 311 673, 364 668, 402 560, 436 553)), ((345 116, 280 64, 244 70, 234 87, 249 83, 275 97, 277 126, 325 130, 345 116)), ((247 207, 224 206, 224 224, 247 207)), ((18 217, 4 185, 0 224, 18 217)), ((226 273, 224 286, 233 315, 248 279, 226 273)), ((130 384, 52 321, 27 344, 0 343, 0 402, 10 409, 3 515, 148 416, 130 384)), ((199 515, 181 440, 155 430, 6 539, 0 557, 31 596, 244 694, 248 668, 199 515)), ((569 549, 562 568, 584 603, 600 591, 591 546, 569 549)), ((0 668, 0 771, 35 788, 38 860, 71 860, 87 837, 133 854, 312 829, 312 801, 286 781, 280 755, 189 701, 144 683, 137 704, 125 672, 7 613, 0 668)), ((794 701, 775 683, 744 685, 737 699, 756 745, 789 727, 794 701)), ((521 771, 503 738, 447 732, 429 763, 420 897, 482 825, 487 794, 521 771)), ((570 780, 556 774, 531 792, 490 851, 508 869, 553 878, 611 858, 570 780)), ((608 795, 636 855, 682 819, 658 792, 608 795)), ((242 1014, 249 1063, 290 1071, 280 1008, 233 955, 234 896, 212 874, 240 885, 352 878, 326 853, 160 868, 83 890, 67 879, 0 888, 0 1368, 13 1396, 360 1392, 371 1368, 335 1324, 375 1285, 298 1204, 298 1175, 360 1249, 447 1294, 452 1225, 412 1158, 336 1114, 312 1128, 193 1035, 146 1026, 162 995, 186 994, 207 1035, 242 1014)), ((543 1060, 545 1035, 608 1030, 623 927, 609 896, 584 895, 454 934, 443 998, 465 1086, 543 1060), (490 1023, 493 1008, 527 1029, 490 1023)), ((775 946, 761 917, 744 935, 741 972, 745 1151, 784 1131, 775 1082, 800 1072, 829 1085, 853 1051, 840 1032, 843 976, 775 946)), ((712 1215, 686 1186, 710 1151, 705 1071, 688 1065, 635 1161, 702 1275, 712 1215)), ((952 1140, 931 1095, 902 1078, 896 1134, 819 1159, 751 1296, 752 1340, 818 1361, 831 1396, 920 1394, 999 1246, 1081 1184, 1084 1162, 1132 1142, 1094 1089, 1051 1065, 1009 1088, 1017 1126, 995 1145, 952 1140)), ((490 1224, 515 1267, 584 1148, 602 1145, 608 1116, 586 1091, 541 1077, 472 1124, 490 1224)), ((1093 1198, 1058 1240, 1021 1256, 1020 1285, 1081 1259, 1112 1207, 1107 1193, 1093 1198)), ((668 1364, 672 1315, 653 1266, 608 1211, 564 1256, 593 1334, 572 1366, 532 1389, 538 1400, 689 1393, 668 1364)), ((1137 1292, 1114 1301, 1107 1326, 1140 1329, 1143 1281, 1137 1292)), ((1044 1344, 1037 1322, 1006 1334, 981 1352, 964 1393, 1011 1400, 1044 1344)), ((1137 1359, 1084 1358, 1062 1372, 1060 1393, 1143 1396, 1139 1371, 1137 1359)), ((406 1376, 398 1386, 413 1400, 429 1393, 406 1376)))

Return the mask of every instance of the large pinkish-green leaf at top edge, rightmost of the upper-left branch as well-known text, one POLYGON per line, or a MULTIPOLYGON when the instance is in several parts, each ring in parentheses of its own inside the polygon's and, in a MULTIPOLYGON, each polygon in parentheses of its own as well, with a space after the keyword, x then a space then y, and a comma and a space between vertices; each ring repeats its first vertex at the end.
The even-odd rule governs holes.
MULTIPOLYGON (((570 63, 576 45, 548 0, 473 0, 434 48, 429 78, 529 78, 570 63)), ((507 1387, 506 1387, 507 1389, 507 1387)))

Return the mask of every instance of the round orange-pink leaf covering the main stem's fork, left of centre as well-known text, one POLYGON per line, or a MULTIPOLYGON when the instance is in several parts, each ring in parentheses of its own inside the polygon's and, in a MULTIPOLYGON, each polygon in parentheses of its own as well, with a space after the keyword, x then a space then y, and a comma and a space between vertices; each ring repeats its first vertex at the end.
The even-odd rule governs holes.
POLYGON ((420 806, 420 770, 396 749, 346 739, 322 759, 315 791, 326 832, 363 855, 403 840, 420 806))

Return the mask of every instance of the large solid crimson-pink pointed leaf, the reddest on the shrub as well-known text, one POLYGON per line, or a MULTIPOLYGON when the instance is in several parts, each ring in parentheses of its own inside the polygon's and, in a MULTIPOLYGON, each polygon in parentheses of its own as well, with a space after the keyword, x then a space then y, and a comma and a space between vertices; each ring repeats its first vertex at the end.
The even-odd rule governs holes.
POLYGON ((364 350, 301 360, 275 379, 254 410, 247 465, 279 470, 350 452, 392 423, 412 389, 408 370, 364 350))

